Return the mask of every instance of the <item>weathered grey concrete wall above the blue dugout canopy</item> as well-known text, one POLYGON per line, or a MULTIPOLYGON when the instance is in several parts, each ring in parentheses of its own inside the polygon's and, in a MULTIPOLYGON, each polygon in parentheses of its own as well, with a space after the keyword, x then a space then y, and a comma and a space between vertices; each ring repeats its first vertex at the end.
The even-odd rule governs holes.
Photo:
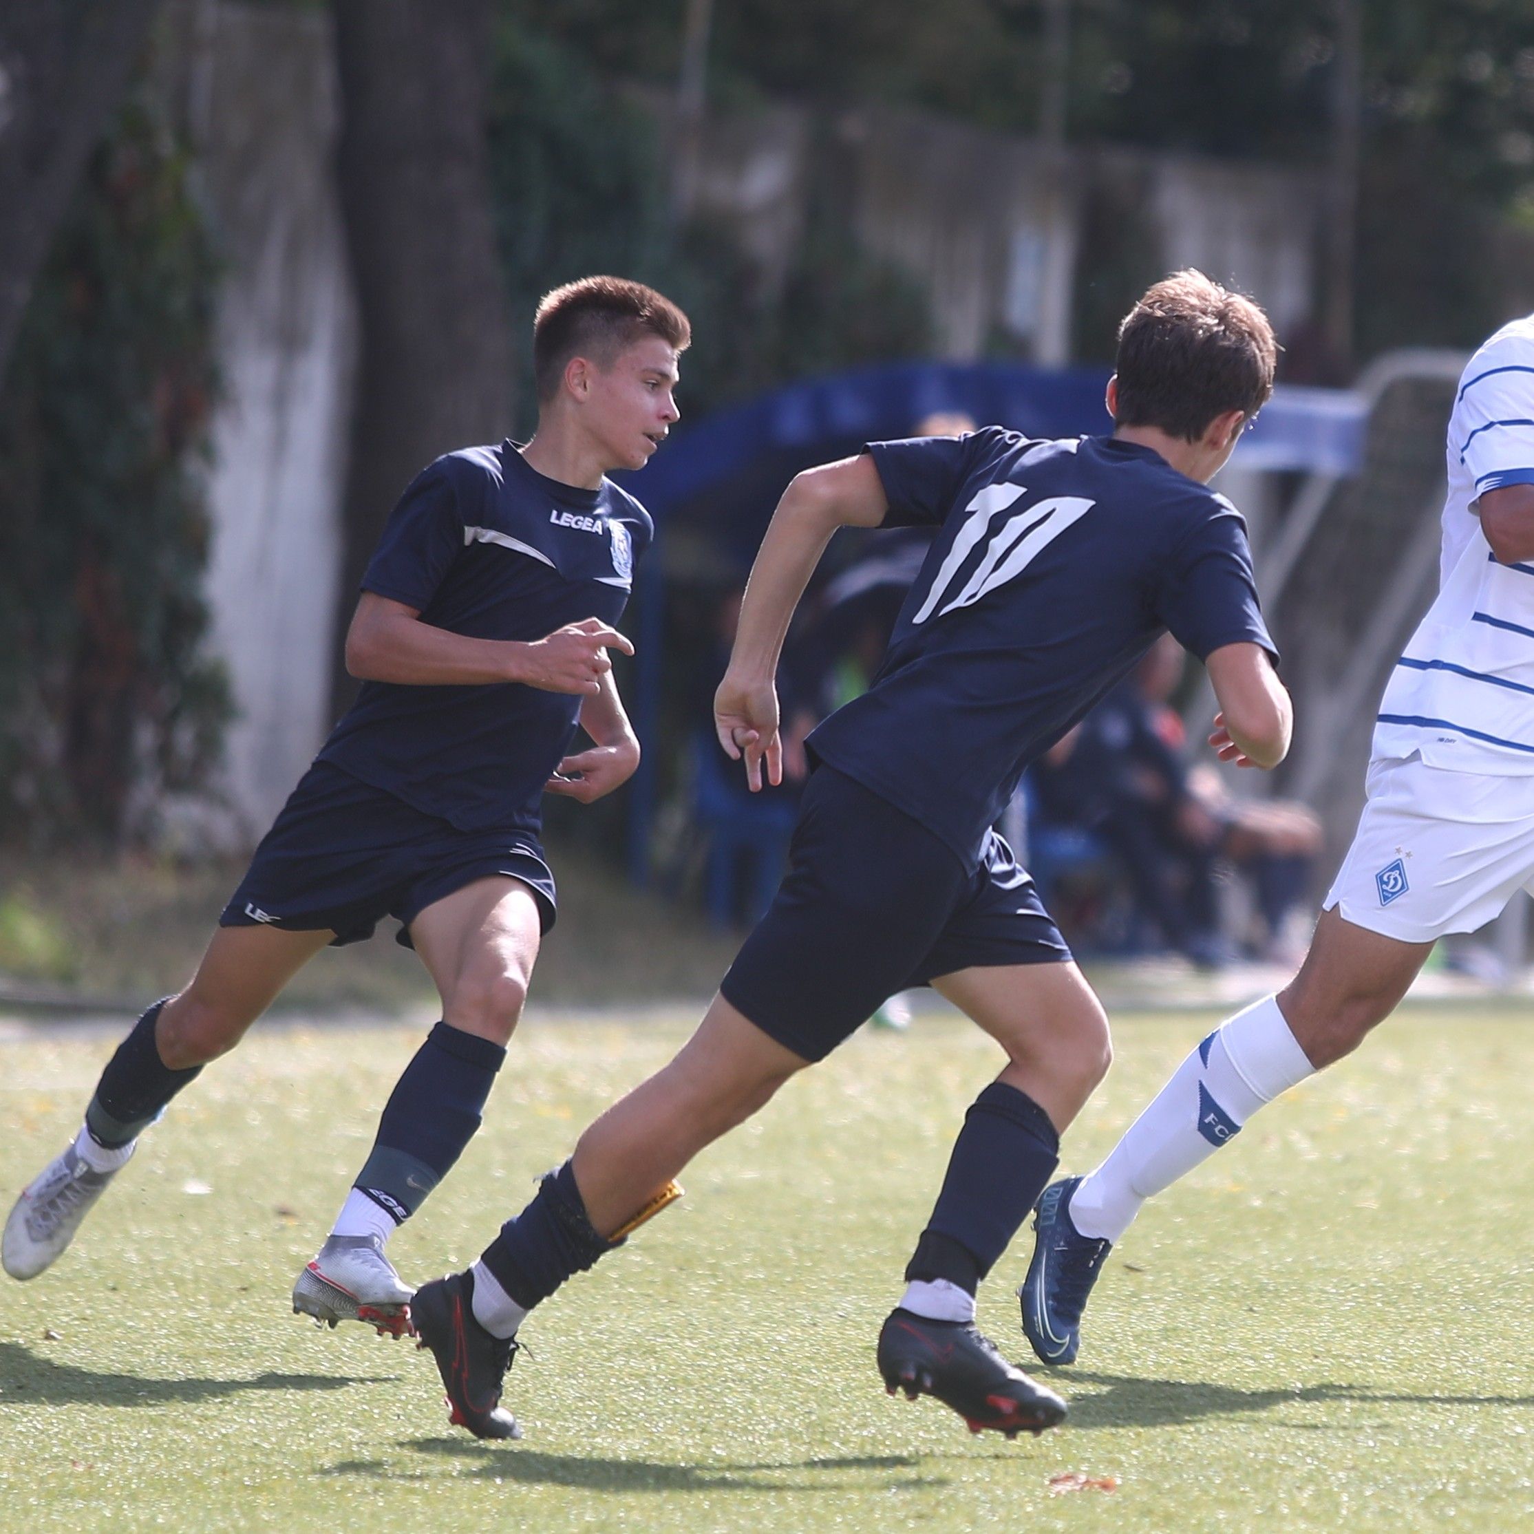
MULTIPOLYGON (((666 103, 650 104, 664 114, 666 103)), ((923 112, 719 114, 700 135, 695 209, 733 224, 767 281, 787 270, 811 178, 834 178, 862 244, 925 290, 951 360, 1009 336, 1071 360, 1074 284, 1094 196, 1134 213, 1146 272, 1195 265, 1258 298, 1279 334, 1315 314, 1321 187, 1261 163, 1066 146, 923 112), (827 163, 828 161, 828 163, 827 163)), ((1127 298, 1127 295, 1126 295, 1127 298)))

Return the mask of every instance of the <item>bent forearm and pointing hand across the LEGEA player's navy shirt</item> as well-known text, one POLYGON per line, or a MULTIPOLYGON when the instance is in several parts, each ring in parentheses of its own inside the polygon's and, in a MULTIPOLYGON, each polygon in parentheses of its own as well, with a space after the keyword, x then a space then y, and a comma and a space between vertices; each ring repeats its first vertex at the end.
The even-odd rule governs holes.
POLYGON ((347 630, 347 670, 357 681, 407 687, 474 687, 520 681, 543 692, 595 695, 612 670, 607 650, 634 646, 600 618, 543 640, 476 640, 420 621, 420 611, 365 591, 347 630))

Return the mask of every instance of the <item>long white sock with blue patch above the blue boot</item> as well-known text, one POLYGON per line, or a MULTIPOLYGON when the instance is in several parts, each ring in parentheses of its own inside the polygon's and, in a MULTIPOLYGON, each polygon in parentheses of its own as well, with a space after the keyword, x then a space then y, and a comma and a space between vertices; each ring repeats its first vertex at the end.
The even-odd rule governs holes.
POLYGON ((1235 1138, 1264 1103, 1313 1074, 1276 997, 1236 1012, 1177 1068, 1108 1160, 1081 1180, 1071 1195, 1071 1223, 1085 1236, 1117 1241, 1147 1198, 1235 1138))

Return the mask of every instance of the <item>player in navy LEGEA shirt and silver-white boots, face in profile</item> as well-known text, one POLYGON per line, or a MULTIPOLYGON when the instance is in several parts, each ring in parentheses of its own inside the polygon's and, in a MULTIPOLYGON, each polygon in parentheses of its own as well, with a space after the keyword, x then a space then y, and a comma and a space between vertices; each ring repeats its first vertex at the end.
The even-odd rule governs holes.
POLYGON ((233 1049, 327 943, 400 922, 442 996, 334 1230, 293 1309, 399 1335, 411 1289, 385 1255, 480 1123, 554 922, 545 793, 591 802, 640 747, 609 649, 644 508, 606 476, 641 468, 676 420, 687 318, 638 282, 584 278, 534 321, 538 425, 465 448, 405 491, 362 580, 347 669, 362 680, 256 848, 190 985, 138 1020, 74 1143, 26 1187, 3 1262, 34 1278, 133 1154, 138 1135, 233 1049), (577 747, 577 727, 591 739, 577 747))

